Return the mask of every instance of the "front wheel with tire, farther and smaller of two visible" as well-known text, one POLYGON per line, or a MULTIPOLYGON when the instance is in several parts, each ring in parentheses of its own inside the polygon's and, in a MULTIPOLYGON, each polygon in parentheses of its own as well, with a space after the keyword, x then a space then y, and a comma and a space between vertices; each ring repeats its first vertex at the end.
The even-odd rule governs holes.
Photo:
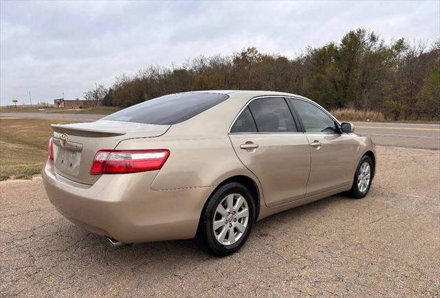
POLYGON ((358 167, 356 168, 355 176, 353 177, 353 185, 351 185, 351 190, 349 191, 349 195, 352 198, 364 198, 364 196, 369 193, 371 183, 373 182, 374 170, 373 161, 369 156, 364 155, 362 159, 360 159, 358 167), (369 168, 366 167, 366 165, 368 165, 369 168), (360 181, 363 181, 363 184, 360 183, 360 181))

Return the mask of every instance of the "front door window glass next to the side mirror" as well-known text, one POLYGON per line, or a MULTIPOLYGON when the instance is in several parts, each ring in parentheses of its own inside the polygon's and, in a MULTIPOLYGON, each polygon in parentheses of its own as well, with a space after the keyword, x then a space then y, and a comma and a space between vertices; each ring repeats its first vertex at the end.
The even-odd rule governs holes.
POLYGON ((298 116, 303 120, 306 133, 336 133, 335 121, 318 106, 306 102, 289 98, 298 116))

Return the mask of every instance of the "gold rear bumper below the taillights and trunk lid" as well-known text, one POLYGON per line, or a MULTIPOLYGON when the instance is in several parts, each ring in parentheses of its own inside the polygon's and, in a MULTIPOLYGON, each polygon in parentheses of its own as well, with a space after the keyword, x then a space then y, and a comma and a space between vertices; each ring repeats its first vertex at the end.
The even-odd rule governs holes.
POLYGON ((52 161, 41 174, 50 202, 65 218, 120 242, 193 238, 213 190, 151 190, 157 171, 102 175, 94 185, 80 185, 56 174, 52 161))

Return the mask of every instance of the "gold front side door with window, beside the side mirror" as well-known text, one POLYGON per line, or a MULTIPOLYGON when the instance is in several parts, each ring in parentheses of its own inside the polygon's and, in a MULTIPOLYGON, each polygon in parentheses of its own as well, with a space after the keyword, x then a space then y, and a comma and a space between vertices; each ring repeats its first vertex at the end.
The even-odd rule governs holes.
POLYGON ((335 119, 318 105, 289 98, 305 130, 311 150, 311 170, 306 196, 353 183, 353 134, 340 133, 335 119))

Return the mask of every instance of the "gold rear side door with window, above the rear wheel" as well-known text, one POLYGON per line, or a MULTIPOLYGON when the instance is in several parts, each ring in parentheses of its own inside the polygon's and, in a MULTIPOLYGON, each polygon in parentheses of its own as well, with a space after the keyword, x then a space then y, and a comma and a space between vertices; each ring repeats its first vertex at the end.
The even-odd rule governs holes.
POLYGON ((236 155, 259 179, 267 206, 305 197, 309 142, 298 132, 285 98, 252 100, 232 124, 229 137, 236 155))

